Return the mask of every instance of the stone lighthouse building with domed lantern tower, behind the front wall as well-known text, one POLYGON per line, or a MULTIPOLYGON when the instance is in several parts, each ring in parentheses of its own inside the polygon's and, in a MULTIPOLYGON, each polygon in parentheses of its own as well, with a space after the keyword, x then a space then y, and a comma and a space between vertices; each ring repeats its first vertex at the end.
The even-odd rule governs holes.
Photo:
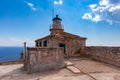
POLYGON ((86 38, 64 32, 61 24, 62 19, 56 15, 53 18, 52 26, 50 27, 50 35, 35 40, 36 47, 59 48, 64 49, 66 57, 84 56, 86 38))

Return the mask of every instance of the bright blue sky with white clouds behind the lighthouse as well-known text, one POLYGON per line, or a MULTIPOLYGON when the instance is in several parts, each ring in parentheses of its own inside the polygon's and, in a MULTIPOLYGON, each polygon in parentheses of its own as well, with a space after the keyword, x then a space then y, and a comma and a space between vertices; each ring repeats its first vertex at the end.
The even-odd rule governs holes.
POLYGON ((0 0, 0 46, 33 46, 48 35, 53 7, 86 45, 120 46, 120 0, 0 0))

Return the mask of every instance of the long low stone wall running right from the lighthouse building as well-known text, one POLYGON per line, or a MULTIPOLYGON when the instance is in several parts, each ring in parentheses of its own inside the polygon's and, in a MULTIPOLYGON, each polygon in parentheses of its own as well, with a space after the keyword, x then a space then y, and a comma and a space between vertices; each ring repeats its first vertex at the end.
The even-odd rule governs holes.
POLYGON ((86 54, 93 59, 120 66, 120 47, 86 47, 86 54))

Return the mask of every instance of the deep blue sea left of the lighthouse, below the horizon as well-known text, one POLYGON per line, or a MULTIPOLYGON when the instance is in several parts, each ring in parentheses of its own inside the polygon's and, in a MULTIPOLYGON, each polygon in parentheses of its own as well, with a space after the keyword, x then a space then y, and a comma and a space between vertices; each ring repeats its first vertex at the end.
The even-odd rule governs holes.
POLYGON ((23 47, 0 47, 0 62, 18 60, 23 47))

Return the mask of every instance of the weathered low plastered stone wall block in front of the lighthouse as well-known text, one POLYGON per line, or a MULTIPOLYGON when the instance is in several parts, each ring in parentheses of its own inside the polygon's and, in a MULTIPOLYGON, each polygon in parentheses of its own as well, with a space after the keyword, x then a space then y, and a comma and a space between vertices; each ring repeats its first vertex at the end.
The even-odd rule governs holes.
POLYGON ((28 73, 65 67, 62 48, 28 48, 24 64, 28 73))

